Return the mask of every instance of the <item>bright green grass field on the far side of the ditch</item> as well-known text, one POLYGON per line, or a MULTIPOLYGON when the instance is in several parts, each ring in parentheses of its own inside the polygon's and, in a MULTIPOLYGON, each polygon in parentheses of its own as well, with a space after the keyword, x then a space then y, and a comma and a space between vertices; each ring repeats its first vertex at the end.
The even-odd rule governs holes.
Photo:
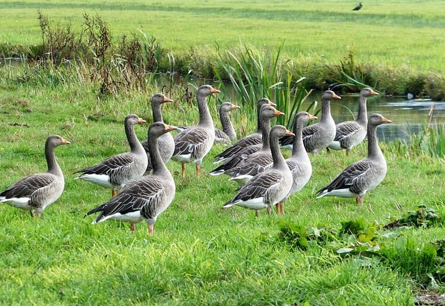
POLYGON ((267 46, 291 56, 341 60, 351 47, 359 61, 444 72, 443 1, 17 1, 0 3, 0 42, 41 43, 37 11, 79 30, 83 14, 99 15, 115 38, 143 31, 173 54, 218 44, 267 46))

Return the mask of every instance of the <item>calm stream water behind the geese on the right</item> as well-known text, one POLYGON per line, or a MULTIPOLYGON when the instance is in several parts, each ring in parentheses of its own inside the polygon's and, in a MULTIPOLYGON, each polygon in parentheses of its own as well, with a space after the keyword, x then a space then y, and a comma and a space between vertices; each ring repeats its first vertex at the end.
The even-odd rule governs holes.
MULTIPOLYGON (((317 101, 320 101, 318 93, 317 101)), ((311 101, 309 99, 309 101, 311 101)), ((335 122, 354 120, 358 111, 358 95, 343 95, 341 100, 332 100, 331 113, 335 122)), ((444 124, 445 102, 430 99, 407 100, 406 97, 370 97, 367 102, 368 115, 381 113, 392 121, 377 129, 378 138, 389 142, 395 138, 405 139, 423 131, 426 124, 444 124), (430 115, 432 109, 432 115, 430 115)))

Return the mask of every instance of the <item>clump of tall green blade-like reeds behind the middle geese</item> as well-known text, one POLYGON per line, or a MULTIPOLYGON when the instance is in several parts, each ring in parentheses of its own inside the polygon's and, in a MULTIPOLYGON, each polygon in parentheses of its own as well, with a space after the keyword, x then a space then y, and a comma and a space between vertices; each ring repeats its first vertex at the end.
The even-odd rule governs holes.
POLYGON ((285 113, 277 118, 277 124, 291 128, 293 117, 298 111, 315 111, 316 102, 303 106, 312 90, 307 90, 305 77, 293 80, 293 62, 283 61, 281 48, 277 54, 265 50, 255 52, 247 46, 237 54, 226 51, 220 54, 218 65, 223 73, 216 71, 216 77, 223 92, 227 94, 227 81, 232 93, 243 105, 256 105, 259 97, 268 97, 285 113), (225 77, 223 77, 225 76, 225 77), (314 105, 315 104, 315 105, 314 105), (305 107, 305 108, 303 108, 305 107))

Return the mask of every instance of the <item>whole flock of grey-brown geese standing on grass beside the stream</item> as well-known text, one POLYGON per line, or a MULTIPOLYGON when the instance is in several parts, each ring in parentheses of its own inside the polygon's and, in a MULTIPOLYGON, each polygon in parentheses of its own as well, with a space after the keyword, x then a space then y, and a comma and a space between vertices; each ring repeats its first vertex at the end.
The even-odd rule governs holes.
MULTIPOLYGON (((213 143, 229 144, 218 154, 215 163, 220 163, 211 175, 228 175, 239 186, 237 194, 223 207, 238 205, 258 211, 266 209, 268 214, 275 205, 277 214, 284 214, 284 202, 289 196, 300 191, 312 175, 310 154, 321 150, 350 150, 368 138, 368 156, 345 168, 330 184, 317 191, 316 198, 336 196, 356 198, 363 203, 364 195, 385 178, 387 163, 378 145, 378 125, 391 122, 375 113, 368 117, 366 99, 378 95, 371 88, 363 88, 359 97, 357 119, 335 124, 331 112, 332 99, 341 99, 331 90, 326 90, 321 99, 321 120, 316 124, 308 122, 318 118, 305 111, 296 113, 293 131, 282 125, 270 127, 270 119, 284 115, 270 99, 257 102, 257 131, 236 140, 236 132, 229 120, 229 112, 239 108, 230 102, 220 106, 220 121, 223 131, 216 129, 207 106, 207 97, 220 92, 209 85, 197 89, 196 99, 199 122, 191 127, 174 127, 163 122, 161 105, 172 102, 163 94, 152 97, 154 123, 149 126, 147 140, 138 140, 134 127, 145 123, 138 115, 127 115, 124 129, 130 151, 116 154, 101 163, 77 170, 76 179, 92 182, 112 191, 111 200, 88 211, 88 215, 99 213, 92 223, 104 220, 120 220, 135 224, 145 221, 149 233, 154 232, 156 218, 168 208, 175 198, 175 181, 166 168, 170 159, 181 163, 182 177, 186 163, 195 163, 196 176, 200 176, 200 165, 213 143), (179 133, 173 138, 170 131, 179 133), (232 144, 233 143, 233 144, 232 144), (232 144, 232 145, 230 145, 232 144), (292 150, 284 159, 280 148, 292 150)), ((47 172, 29 175, 19 179, 6 191, 0 193, 0 202, 40 214, 63 193, 65 180, 58 166, 54 149, 68 145, 69 141, 58 135, 47 138, 44 152, 47 172)))

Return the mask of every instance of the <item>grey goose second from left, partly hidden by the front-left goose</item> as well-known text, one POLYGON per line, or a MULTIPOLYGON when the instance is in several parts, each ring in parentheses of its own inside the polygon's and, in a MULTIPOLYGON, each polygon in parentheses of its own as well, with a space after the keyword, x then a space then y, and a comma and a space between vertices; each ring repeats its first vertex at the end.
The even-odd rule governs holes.
POLYGON ((113 155, 95 166, 77 170, 81 173, 75 179, 83 179, 105 188, 111 188, 114 197, 124 186, 142 177, 147 169, 147 154, 139 142, 134 126, 146 121, 137 115, 127 115, 124 120, 125 134, 130 145, 130 152, 113 155))

